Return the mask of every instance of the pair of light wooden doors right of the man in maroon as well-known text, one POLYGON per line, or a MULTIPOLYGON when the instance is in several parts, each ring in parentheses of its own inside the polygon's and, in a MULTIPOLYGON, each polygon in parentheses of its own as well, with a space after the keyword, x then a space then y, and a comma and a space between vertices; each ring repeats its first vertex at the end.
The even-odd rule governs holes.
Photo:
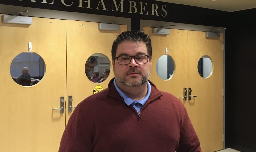
POLYGON ((223 34, 206 38, 201 31, 171 29, 169 35, 161 35, 152 33, 149 27, 143 30, 150 35, 153 48, 150 80, 184 104, 202 151, 223 149, 223 34), (155 65, 166 54, 172 58, 174 69, 163 80, 158 76, 163 71, 155 65), (212 63, 204 70, 209 71, 208 76, 203 76, 200 70, 203 57, 212 63))

